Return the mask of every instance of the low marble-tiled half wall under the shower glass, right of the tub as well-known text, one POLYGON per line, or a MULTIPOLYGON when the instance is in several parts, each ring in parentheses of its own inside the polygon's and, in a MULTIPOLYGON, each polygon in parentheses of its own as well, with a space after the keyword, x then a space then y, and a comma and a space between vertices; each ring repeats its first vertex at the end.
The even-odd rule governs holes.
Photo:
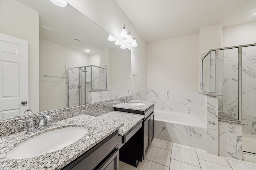
POLYGON ((242 125, 219 121, 218 127, 219 156, 242 160, 242 125))

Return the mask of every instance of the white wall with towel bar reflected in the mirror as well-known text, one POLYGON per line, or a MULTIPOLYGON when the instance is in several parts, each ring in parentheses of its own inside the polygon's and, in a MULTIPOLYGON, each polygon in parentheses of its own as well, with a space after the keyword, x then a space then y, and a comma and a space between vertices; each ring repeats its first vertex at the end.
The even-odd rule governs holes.
POLYGON ((39 39, 40 61, 40 111, 66 108, 66 79, 52 76, 66 76, 66 64, 74 67, 89 64, 89 57, 61 45, 39 39))

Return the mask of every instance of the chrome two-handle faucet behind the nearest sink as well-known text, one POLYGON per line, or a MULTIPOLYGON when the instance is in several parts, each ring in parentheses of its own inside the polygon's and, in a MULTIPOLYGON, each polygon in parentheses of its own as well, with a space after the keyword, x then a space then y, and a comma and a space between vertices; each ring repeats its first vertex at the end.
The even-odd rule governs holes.
POLYGON ((42 129, 46 129, 48 127, 52 126, 52 115, 56 115, 58 113, 52 113, 52 114, 44 114, 42 116, 39 116, 39 122, 38 122, 38 126, 35 127, 35 123, 33 119, 22 119, 19 120, 18 123, 22 123, 22 122, 27 122, 29 121, 28 124, 28 129, 26 133, 34 133, 36 131, 41 131, 42 129))

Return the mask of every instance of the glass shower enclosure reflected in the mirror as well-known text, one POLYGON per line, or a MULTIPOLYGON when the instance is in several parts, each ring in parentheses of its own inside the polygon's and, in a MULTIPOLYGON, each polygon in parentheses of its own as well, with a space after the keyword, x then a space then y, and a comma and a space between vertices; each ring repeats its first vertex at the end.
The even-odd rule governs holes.
POLYGON ((68 68, 68 107, 88 104, 90 92, 107 88, 107 68, 94 65, 68 68))

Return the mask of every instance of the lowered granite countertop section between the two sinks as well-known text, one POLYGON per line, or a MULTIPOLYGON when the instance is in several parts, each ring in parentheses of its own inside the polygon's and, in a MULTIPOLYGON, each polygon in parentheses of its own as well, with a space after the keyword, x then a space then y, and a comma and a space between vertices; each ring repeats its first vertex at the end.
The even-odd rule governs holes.
POLYGON ((111 111, 104 115, 98 116, 100 119, 106 121, 122 121, 124 125, 119 128, 118 135, 123 136, 125 135, 134 125, 136 125, 139 121, 141 121, 145 116, 134 114, 134 113, 125 113, 122 111, 111 111))

